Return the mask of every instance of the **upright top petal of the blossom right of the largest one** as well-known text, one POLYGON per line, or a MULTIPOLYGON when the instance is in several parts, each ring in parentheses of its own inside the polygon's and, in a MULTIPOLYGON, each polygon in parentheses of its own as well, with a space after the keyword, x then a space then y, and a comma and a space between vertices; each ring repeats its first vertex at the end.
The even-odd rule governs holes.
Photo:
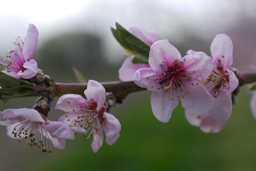
POLYGON ((218 34, 211 43, 213 60, 221 60, 222 67, 230 68, 233 63, 233 43, 229 36, 218 34), (224 56, 224 58, 222 58, 224 56))

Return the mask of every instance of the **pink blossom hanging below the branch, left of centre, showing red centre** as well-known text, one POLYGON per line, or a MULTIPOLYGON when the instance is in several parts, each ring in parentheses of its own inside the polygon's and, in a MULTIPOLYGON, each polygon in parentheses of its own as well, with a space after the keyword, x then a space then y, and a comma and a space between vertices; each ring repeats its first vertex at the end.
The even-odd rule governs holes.
POLYGON ((76 133, 83 133, 85 140, 93 136, 91 146, 96 153, 103 144, 102 130, 107 144, 112 145, 119 138, 121 124, 115 116, 105 112, 106 90, 99 82, 89 80, 84 93, 87 100, 76 94, 61 96, 55 109, 68 112, 59 121, 69 124, 76 133))

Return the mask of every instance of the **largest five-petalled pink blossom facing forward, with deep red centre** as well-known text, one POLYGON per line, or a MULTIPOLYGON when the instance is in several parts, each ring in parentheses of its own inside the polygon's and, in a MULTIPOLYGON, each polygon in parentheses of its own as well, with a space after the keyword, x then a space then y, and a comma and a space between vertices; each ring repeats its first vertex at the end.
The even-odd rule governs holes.
POLYGON ((168 40, 159 40, 150 48, 148 63, 151 68, 136 71, 134 82, 153 91, 151 107, 158 120, 168 122, 179 99, 185 109, 194 113, 211 109, 213 98, 202 84, 209 76, 209 58, 205 53, 181 58, 168 40))

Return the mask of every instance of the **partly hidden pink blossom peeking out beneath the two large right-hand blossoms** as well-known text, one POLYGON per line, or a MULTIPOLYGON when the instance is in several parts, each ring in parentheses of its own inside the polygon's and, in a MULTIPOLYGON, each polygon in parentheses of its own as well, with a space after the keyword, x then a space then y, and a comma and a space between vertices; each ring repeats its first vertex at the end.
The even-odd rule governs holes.
POLYGON ((225 122, 214 120, 208 112, 198 115, 186 110, 185 116, 192 126, 200 127, 204 133, 218 133, 225 125, 225 122))

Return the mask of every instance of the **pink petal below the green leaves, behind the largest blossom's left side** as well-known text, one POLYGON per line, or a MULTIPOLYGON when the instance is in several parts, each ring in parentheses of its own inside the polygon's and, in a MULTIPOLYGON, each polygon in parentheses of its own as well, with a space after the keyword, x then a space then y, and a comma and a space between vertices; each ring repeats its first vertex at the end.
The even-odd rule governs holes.
POLYGON ((119 69, 118 73, 119 73, 119 79, 121 81, 133 81, 134 74, 138 69, 150 67, 149 64, 142 64, 142 63, 134 64, 134 63, 132 63, 132 60, 134 57, 135 56, 133 55, 133 56, 126 58, 126 60, 122 64, 121 68, 119 69))

